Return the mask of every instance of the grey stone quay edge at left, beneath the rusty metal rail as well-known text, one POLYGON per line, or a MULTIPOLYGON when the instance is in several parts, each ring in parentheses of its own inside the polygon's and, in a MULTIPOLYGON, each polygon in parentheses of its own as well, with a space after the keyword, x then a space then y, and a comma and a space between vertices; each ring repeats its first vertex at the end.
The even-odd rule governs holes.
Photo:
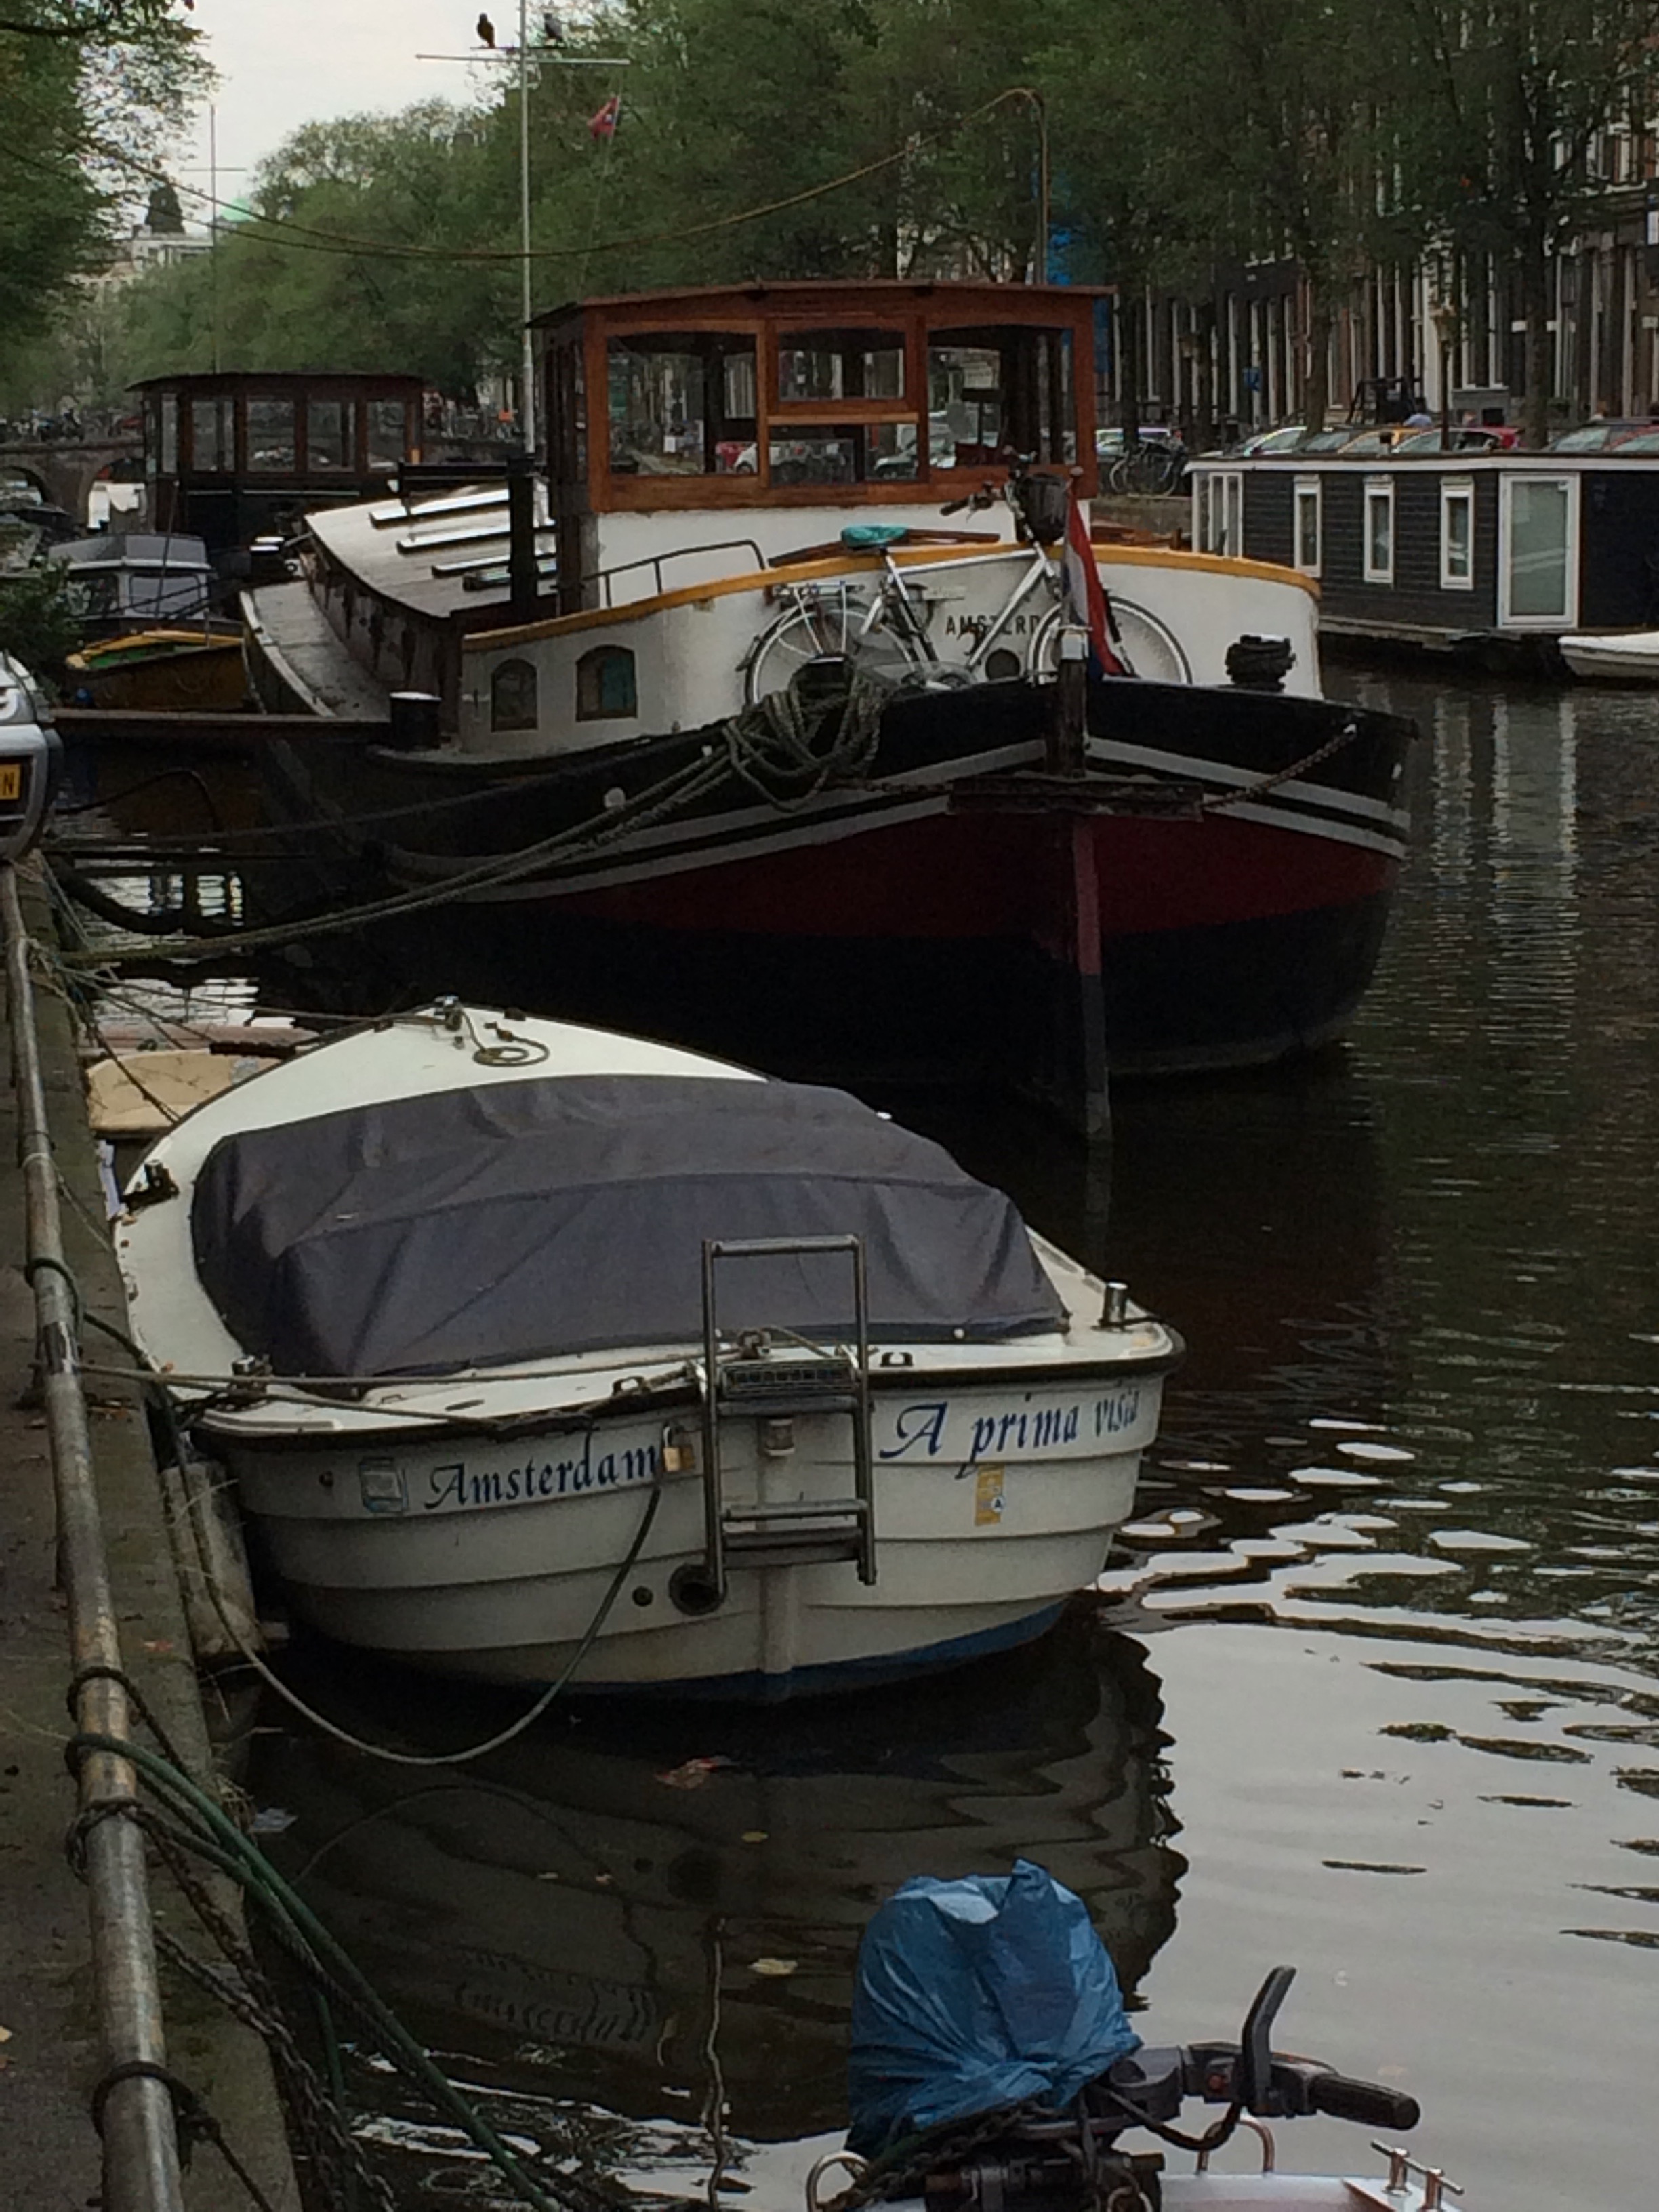
MULTIPOLYGON (((18 869, 29 933, 51 942, 51 916, 33 863, 18 869)), ((0 995, 7 978, 0 973, 0 995)), ((126 1298, 86 1126, 86 1104, 69 1009, 49 987, 33 993, 53 1155, 64 1197, 64 1259, 84 1310, 126 1327, 126 1298)), ((9 1009, 7 1009, 9 1013, 9 1009)), ((24 1190, 18 1168, 18 1079, 0 1086, 0 2170, 9 2205, 97 2203, 100 2141, 91 2095, 106 2066, 100 2046, 91 1898, 71 1874, 64 1838, 75 1783, 64 1763, 71 1734, 71 1648, 55 1573, 55 1502, 46 1422, 33 1394, 35 1301, 22 1272, 24 1190)), ((93 1365, 124 1360, 88 1334, 93 1365)), ((161 1489, 144 1407, 133 1385, 86 1378, 97 1504, 108 1555, 122 1663, 166 1730, 192 1778, 215 1787, 204 1692, 190 1657, 184 1601, 173 1568, 161 1489)), ((157 1929, 197 1953, 210 1949, 195 1911, 157 1869, 150 1880, 157 1929)), ((232 1902, 223 1896, 219 1902, 232 1902)), ((208 2002, 161 1960, 168 2068, 223 2128, 272 2205, 299 2212, 301 2197, 283 2132, 265 2044, 223 2006, 208 2002)), ((186 2172, 188 2212, 223 2212, 241 2185, 212 2143, 186 2172)))

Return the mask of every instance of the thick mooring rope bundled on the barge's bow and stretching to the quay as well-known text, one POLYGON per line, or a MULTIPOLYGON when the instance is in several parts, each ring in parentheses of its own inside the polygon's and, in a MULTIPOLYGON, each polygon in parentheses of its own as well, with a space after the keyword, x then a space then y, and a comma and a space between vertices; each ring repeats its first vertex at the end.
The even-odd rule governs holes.
MULTIPOLYGON (((288 945, 303 945, 310 938, 345 936, 372 922, 394 920, 405 914, 422 914, 469 898, 476 891, 502 889, 520 883, 538 869, 560 863, 575 865, 593 852, 617 843, 622 836, 653 827, 670 814, 681 814, 728 779, 745 783, 768 805, 781 810, 803 807, 830 783, 849 781, 867 772, 880 712, 889 686, 876 677, 856 672, 845 695, 825 699, 816 710, 807 706, 794 686, 759 699, 734 714, 721 728, 723 743, 708 745, 697 759, 670 770, 661 781, 624 799, 622 805, 557 830, 553 836, 520 845, 509 854, 493 854, 489 860, 458 869, 442 883, 422 885, 411 891, 394 891, 385 898, 365 900, 358 907, 334 907, 327 914, 303 916, 290 922, 270 922, 261 929, 234 929, 212 936, 157 940, 153 947, 86 947, 84 951, 60 953, 66 969, 115 969, 139 960, 217 960, 228 942, 243 951, 270 951, 288 945), (825 726, 834 723, 834 737, 825 743, 825 726)), ((69 885, 64 885, 69 891, 69 885)), ((148 918, 128 916, 135 929, 144 929, 148 918)))

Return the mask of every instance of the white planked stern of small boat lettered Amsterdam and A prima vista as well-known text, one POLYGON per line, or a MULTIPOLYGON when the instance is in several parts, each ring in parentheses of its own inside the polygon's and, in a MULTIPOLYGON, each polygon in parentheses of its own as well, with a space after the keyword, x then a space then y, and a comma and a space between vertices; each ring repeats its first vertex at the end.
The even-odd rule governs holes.
MULTIPOLYGON (((918 1378, 876 1400, 876 1582, 852 1559, 734 1562, 714 1613, 679 1601, 703 1559, 703 1484, 659 1471, 661 1422, 513 1444, 230 1444, 226 1458, 307 1621, 487 1681, 566 1670, 655 1489, 650 1531, 577 1688, 790 1697, 953 1663, 1051 1626, 1130 1515, 1159 1398, 1159 1378, 1060 1391, 1009 1378, 951 1385, 940 1422, 945 1400, 918 1378), (989 1444, 998 1458, 962 1455, 975 1433, 1002 1438, 989 1444)), ((852 1489, 845 1418, 796 1420, 787 1458, 745 1453, 748 1422, 728 1431, 728 1506, 852 1489)))

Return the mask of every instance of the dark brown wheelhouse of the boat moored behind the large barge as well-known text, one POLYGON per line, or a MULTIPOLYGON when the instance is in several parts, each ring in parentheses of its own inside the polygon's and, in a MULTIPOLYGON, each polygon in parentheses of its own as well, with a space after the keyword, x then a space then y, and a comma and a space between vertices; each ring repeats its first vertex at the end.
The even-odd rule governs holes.
POLYGON ((372 500, 420 460, 418 376, 226 372, 133 389, 153 526, 208 553, 292 531, 314 507, 372 500))

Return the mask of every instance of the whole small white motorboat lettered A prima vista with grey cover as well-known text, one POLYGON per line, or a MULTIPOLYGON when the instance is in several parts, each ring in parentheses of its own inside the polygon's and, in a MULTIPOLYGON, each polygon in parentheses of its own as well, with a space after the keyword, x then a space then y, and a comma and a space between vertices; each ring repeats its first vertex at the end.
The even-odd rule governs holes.
POLYGON ((845 1093, 453 1000, 199 1106, 126 1203, 133 1332, 294 1608, 493 1681, 1026 1641, 1181 1354, 845 1093))

